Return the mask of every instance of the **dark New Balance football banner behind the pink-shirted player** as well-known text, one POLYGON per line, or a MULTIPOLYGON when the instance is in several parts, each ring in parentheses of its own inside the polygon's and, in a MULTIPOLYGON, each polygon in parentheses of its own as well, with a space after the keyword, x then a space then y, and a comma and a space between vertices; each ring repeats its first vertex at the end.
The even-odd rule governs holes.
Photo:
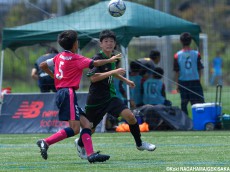
MULTIPOLYGON (((85 108, 87 93, 77 93, 78 104, 85 108)), ((55 93, 4 95, 0 133, 54 133, 68 126, 58 120, 55 93)))

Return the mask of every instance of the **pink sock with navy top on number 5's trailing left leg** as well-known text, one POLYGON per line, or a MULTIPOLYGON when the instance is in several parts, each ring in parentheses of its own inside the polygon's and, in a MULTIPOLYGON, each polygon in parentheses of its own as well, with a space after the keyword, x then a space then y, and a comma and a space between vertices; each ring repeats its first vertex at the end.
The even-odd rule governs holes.
POLYGON ((67 128, 64 128, 64 129, 58 131, 57 133, 49 136, 48 138, 46 138, 44 140, 48 145, 52 145, 54 143, 57 143, 63 139, 66 139, 66 138, 72 137, 72 136, 74 136, 73 129, 70 127, 67 127, 67 128))

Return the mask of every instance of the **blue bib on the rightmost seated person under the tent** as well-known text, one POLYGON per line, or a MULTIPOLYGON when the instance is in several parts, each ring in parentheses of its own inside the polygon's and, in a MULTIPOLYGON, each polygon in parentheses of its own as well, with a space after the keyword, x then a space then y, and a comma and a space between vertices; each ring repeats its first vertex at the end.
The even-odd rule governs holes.
POLYGON ((163 82, 160 79, 147 79, 144 84, 143 103, 144 104, 164 104, 165 97, 162 95, 163 82))

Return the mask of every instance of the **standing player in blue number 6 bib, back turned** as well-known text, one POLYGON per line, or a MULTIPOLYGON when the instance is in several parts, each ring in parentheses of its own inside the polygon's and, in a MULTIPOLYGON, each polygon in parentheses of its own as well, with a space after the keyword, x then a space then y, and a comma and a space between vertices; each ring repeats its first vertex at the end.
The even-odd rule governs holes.
POLYGON ((185 32, 180 36, 183 49, 174 55, 173 70, 176 72, 177 90, 180 92, 181 109, 188 114, 187 105, 190 102, 204 103, 203 88, 200 83, 201 63, 200 53, 190 48, 192 36, 185 32))

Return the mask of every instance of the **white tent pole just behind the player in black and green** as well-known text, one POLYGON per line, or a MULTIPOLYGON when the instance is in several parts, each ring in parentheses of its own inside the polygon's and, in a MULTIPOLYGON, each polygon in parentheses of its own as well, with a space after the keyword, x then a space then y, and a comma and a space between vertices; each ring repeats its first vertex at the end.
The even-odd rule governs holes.
MULTIPOLYGON (((124 56, 124 63, 125 63, 125 74, 126 74, 126 78, 129 79, 129 61, 128 61, 128 48, 125 48, 123 46, 121 46, 121 52, 122 55, 124 56)), ((130 91, 129 91, 129 86, 126 85, 126 96, 127 96, 127 105, 128 108, 130 108, 130 91)))

